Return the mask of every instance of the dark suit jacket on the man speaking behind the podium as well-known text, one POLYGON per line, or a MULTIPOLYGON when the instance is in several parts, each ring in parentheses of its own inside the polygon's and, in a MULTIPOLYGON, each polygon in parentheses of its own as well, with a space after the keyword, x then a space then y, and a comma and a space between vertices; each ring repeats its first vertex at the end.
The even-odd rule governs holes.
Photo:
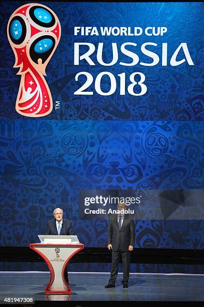
MULTIPOLYGON (((45 235, 58 235, 55 219, 47 222, 44 234, 45 235)), ((73 235, 72 225, 69 220, 62 219, 60 235, 63 235, 63 236, 73 235)))

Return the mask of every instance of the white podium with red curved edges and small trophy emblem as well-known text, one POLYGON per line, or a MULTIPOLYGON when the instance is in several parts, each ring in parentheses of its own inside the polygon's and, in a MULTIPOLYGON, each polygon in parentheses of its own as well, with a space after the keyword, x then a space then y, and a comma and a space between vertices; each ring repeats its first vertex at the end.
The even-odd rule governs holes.
MULTIPOLYGON (((60 237, 63 237, 64 240, 64 237, 71 236, 60 237)), ((68 261, 77 252, 82 250, 84 245, 78 243, 61 244, 60 238, 56 239, 55 242, 56 244, 31 243, 29 247, 44 259, 49 268, 50 279, 48 285, 45 288, 45 294, 71 294, 71 288, 64 279, 64 270, 68 261)))

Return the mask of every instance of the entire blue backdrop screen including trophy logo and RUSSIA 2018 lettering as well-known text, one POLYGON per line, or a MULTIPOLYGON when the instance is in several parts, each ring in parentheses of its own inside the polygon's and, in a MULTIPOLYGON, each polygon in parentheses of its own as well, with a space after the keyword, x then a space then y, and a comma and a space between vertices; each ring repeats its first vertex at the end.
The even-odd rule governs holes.
MULTIPOLYGON (((108 221, 79 218, 84 190, 199 190, 203 203, 203 4, 5 1, 1 12, 1 245, 36 242, 60 207, 86 247, 105 247, 108 221)), ((136 220, 135 247, 203 248, 191 210, 136 220)))

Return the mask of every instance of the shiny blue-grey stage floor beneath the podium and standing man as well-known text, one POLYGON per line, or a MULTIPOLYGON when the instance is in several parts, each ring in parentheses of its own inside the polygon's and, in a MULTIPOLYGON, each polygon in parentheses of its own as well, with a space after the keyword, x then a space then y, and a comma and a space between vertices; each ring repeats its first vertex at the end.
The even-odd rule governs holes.
POLYGON ((105 289, 107 272, 69 272, 71 295, 45 295, 49 272, 0 272, 0 299, 33 297, 35 301, 203 301, 204 275, 130 273, 123 289, 119 273, 115 288, 105 289))

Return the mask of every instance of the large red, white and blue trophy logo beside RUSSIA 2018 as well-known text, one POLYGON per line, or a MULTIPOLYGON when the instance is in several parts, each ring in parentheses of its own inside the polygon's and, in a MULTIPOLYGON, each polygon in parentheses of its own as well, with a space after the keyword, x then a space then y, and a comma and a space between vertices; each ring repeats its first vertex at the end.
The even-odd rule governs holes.
POLYGON ((15 55, 13 67, 21 76, 15 109, 29 117, 47 115, 52 110, 45 68, 60 39, 57 16, 41 4, 26 4, 15 10, 7 25, 7 37, 15 55))

